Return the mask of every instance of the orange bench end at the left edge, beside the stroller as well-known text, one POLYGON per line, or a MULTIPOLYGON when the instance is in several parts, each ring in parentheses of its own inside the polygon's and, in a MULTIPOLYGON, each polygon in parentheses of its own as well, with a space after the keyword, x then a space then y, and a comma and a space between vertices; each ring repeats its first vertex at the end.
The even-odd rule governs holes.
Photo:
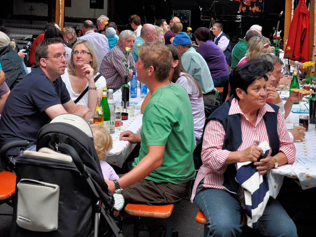
POLYGON ((9 171, 0 172, 0 204, 12 206, 11 197, 15 194, 16 175, 9 171))

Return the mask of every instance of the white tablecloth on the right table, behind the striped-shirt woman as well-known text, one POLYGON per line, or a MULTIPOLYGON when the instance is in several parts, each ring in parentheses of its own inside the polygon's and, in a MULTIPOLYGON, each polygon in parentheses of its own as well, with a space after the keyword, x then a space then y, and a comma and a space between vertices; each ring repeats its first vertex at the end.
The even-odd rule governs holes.
MULTIPOLYGON (((284 92, 283 92, 284 93, 284 92)), ((286 100, 283 101, 284 103, 286 100)), ((306 102, 300 102, 299 105, 293 105, 292 108, 299 109, 304 108, 306 102)), ((307 104, 307 106, 309 106, 307 104)), ((300 113, 290 112, 289 116, 286 118, 286 123, 290 127, 293 123, 299 122, 300 113)), ((304 113, 304 115, 309 115, 308 113, 304 113)), ((293 127, 293 126, 292 126, 293 127)), ((315 124, 309 124, 308 131, 305 133, 305 139, 303 142, 294 142, 296 147, 296 161, 293 165, 283 165, 277 167, 276 169, 271 169, 269 177, 269 185, 270 185, 270 196, 276 197, 280 191, 283 177, 289 177, 298 179, 302 189, 308 189, 312 187, 316 187, 316 164, 305 164, 302 165, 302 161, 310 159, 311 161, 316 160, 316 130, 315 124), (301 159, 300 159, 301 158, 301 159)))

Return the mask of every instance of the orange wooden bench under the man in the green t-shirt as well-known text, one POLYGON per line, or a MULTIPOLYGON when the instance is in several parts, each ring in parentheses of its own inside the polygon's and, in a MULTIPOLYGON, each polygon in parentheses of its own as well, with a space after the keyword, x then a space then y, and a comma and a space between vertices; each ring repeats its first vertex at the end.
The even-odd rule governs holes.
MULTIPOLYGON (((171 214, 173 211, 173 204, 153 206, 145 204, 127 204, 125 212, 131 216, 145 217, 145 218, 158 218, 163 219, 166 225, 166 235, 171 236, 172 233, 172 219, 171 214)), ((138 237, 139 222, 134 223, 134 237, 138 237)))

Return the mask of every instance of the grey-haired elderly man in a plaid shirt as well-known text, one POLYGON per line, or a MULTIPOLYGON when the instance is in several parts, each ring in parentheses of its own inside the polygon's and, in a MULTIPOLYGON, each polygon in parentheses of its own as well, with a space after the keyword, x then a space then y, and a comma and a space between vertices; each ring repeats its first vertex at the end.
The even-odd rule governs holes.
POLYGON ((135 62, 131 53, 128 54, 128 71, 122 60, 126 59, 125 47, 133 48, 135 43, 134 32, 124 30, 119 34, 118 44, 106 54, 101 62, 99 72, 106 79, 107 88, 117 90, 125 84, 124 77, 127 75, 131 79, 135 71, 135 62), (131 66, 131 69, 129 68, 131 66))

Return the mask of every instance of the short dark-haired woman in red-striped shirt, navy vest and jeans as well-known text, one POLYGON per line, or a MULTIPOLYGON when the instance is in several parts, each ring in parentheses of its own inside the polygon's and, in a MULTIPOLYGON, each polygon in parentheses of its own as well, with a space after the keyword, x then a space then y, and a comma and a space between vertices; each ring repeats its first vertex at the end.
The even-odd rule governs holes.
MULTIPOLYGON (((203 165, 197 173, 191 201, 197 203, 208 220, 205 236, 241 233, 244 190, 239 185, 234 193, 227 191, 228 181, 235 179, 236 163, 254 162, 261 178, 266 179, 264 174, 271 168, 295 161, 296 149, 284 117, 278 106, 266 103, 268 71, 264 64, 271 63, 256 59, 234 69, 229 78, 233 96, 212 113, 204 129, 203 165), (258 145, 264 141, 269 143, 270 151, 258 161, 262 152, 258 145)), ((264 236, 297 236, 294 222, 271 197, 252 227, 264 236)))

